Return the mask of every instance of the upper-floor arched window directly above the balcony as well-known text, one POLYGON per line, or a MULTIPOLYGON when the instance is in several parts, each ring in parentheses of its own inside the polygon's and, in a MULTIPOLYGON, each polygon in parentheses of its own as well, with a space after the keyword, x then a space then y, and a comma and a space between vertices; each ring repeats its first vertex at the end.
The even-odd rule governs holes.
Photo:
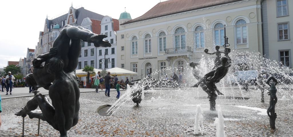
POLYGON ((185 30, 182 27, 175 30, 175 47, 176 49, 185 49, 185 30))

